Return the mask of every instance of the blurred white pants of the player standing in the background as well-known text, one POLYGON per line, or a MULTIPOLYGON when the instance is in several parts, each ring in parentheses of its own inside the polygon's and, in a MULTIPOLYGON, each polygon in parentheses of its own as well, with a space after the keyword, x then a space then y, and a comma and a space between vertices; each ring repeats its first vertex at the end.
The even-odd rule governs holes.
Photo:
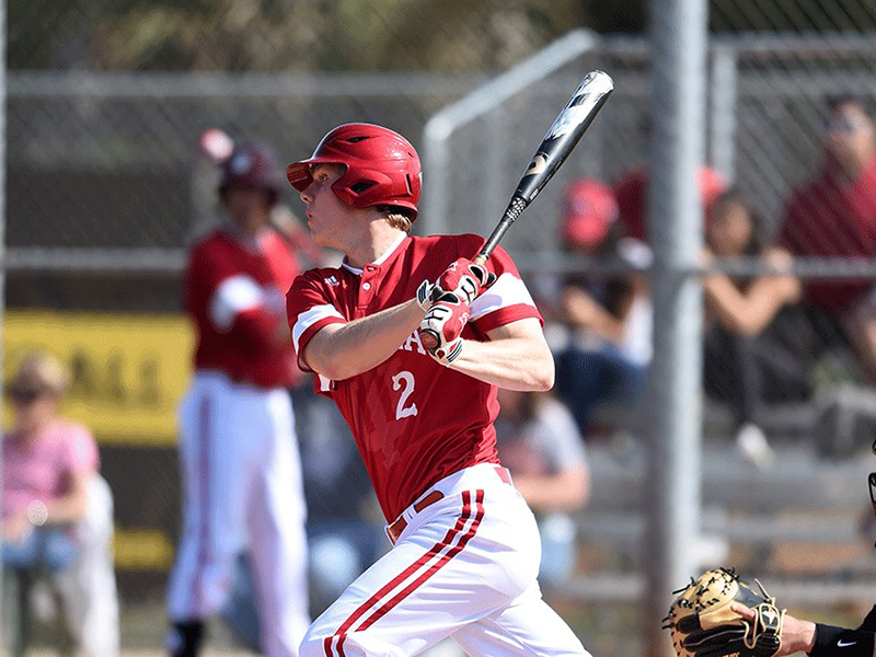
POLYGON ((168 590, 171 620, 217 614, 247 546, 264 654, 297 656, 310 622, 307 511, 288 392, 198 372, 180 429, 183 537, 168 590))

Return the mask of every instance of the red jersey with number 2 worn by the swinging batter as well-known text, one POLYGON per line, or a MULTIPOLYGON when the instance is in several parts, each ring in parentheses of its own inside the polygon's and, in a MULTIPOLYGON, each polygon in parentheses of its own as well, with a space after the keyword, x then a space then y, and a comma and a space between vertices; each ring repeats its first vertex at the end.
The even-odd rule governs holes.
MULTIPOLYGON (((287 295, 299 367, 309 370, 301 353, 320 328, 410 301, 424 279, 436 280, 483 244, 471 234, 403 235, 364 270, 345 264, 299 276, 287 295)), ((498 278, 471 304, 463 337, 485 341, 487 332, 510 322, 541 321, 508 254, 496 249, 488 266, 498 278)), ((319 376, 316 382, 349 424, 388 520, 438 480, 477 463, 498 463, 496 388, 438 364, 416 332, 379 366, 343 381, 319 376)))

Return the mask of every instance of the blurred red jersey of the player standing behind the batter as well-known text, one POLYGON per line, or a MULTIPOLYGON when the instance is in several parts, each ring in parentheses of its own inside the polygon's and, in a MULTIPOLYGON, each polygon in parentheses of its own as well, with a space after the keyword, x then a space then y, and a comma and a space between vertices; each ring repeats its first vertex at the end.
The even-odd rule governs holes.
POLYGON ((195 369, 260 388, 291 385, 290 344, 278 345, 284 292, 301 268, 273 230, 258 239, 220 228, 192 247, 183 303, 197 333, 195 369))

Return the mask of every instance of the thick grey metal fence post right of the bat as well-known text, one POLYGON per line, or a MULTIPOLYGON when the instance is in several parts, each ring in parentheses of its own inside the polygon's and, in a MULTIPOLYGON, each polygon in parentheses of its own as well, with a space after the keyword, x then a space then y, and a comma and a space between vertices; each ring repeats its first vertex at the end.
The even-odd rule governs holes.
POLYGON ((668 655, 660 630, 672 588, 698 567, 702 289, 690 277, 702 243, 698 168, 703 161, 706 5, 653 0, 648 217, 654 247, 654 359, 648 412, 646 653, 668 655))

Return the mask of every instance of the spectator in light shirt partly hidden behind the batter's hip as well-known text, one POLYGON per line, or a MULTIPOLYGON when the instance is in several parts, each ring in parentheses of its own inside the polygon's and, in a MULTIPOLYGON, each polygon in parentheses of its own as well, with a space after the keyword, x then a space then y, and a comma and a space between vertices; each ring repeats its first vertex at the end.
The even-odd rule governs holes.
POLYGON ((539 580, 557 585, 575 568, 570 514, 590 496, 584 440, 568 410, 550 393, 498 391, 496 441, 502 463, 532 508, 542 541, 539 580))

